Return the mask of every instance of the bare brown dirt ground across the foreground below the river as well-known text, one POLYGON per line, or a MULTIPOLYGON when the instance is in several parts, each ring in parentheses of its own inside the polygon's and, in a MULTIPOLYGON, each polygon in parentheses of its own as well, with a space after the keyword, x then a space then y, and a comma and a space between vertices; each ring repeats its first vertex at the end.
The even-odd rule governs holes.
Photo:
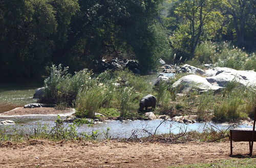
MULTIPOLYGON (((218 159, 246 158, 248 143, 229 142, 184 144, 135 142, 48 142, 0 144, 2 167, 166 167, 218 159)), ((255 148, 253 150, 256 157, 255 148)))

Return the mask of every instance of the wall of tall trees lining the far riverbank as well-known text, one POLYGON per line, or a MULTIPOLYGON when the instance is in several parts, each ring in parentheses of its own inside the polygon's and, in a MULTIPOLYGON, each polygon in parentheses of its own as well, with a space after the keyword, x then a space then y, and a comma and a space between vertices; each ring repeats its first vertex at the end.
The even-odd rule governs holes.
POLYGON ((103 57, 136 59, 143 71, 158 58, 215 63, 204 53, 220 54, 223 41, 255 51, 255 8, 252 0, 3 0, 0 78, 44 74, 51 64, 73 73, 103 57), (220 47, 207 51, 207 41, 220 47))

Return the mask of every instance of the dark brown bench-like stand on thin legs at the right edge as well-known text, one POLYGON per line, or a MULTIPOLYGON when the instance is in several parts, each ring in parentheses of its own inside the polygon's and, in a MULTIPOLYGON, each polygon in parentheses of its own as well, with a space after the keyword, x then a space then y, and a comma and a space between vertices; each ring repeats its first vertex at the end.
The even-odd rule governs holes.
POLYGON ((236 128, 230 130, 230 155, 232 155, 232 141, 234 142, 249 142, 250 156, 252 155, 253 142, 256 142, 256 107, 254 109, 254 121, 252 128, 236 128))

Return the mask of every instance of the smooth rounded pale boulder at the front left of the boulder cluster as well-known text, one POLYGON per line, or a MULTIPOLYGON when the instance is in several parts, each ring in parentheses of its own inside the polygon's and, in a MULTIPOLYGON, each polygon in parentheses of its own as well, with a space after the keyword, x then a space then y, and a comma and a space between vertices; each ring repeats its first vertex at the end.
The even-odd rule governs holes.
POLYGON ((176 88, 179 93, 189 92, 191 89, 196 89, 198 91, 208 91, 208 90, 219 90, 222 87, 212 86, 206 78, 198 75, 186 75, 177 80, 172 85, 176 88))

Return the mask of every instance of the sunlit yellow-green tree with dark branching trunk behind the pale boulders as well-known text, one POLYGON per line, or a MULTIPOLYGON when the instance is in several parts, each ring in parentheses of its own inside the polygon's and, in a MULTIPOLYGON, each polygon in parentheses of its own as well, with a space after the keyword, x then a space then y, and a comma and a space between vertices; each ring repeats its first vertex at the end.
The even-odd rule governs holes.
POLYGON ((178 30, 171 37, 172 45, 193 57, 201 40, 210 39, 221 26, 222 14, 219 0, 181 0, 175 14, 182 17, 178 30))

